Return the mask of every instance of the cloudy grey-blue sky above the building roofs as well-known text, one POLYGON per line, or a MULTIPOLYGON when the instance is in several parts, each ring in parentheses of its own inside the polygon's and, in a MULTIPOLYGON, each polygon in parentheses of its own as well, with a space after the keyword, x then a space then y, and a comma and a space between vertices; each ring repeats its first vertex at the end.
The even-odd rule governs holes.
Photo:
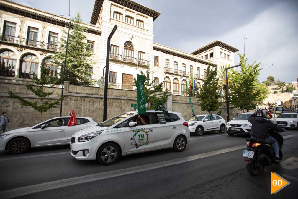
MULTIPOLYGON (((55 15, 69 14, 69 0, 13 0, 55 15), (59 5, 59 6, 58 6, 59 5)), ((214 40, 245 52, 248 64, 261 63, 259 80, 269 75, 285 83, 298 77, 297 0, 134 0, 161 12, 153 22, 153 42, 187 53, 214 40)), ((70 15, 90 23, 95 0, 70 0, 70 15)), ((65 16, 68 17, 68 16, 65 16)))

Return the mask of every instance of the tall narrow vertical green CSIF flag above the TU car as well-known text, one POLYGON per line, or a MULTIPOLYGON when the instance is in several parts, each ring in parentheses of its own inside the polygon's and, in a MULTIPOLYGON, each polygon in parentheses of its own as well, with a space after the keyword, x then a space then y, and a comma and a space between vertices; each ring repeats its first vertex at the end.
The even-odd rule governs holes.
POLYGON ((146 77, 136 74, 136 88, 138 96, 138 114, 146 113, 144 82, 146 77))

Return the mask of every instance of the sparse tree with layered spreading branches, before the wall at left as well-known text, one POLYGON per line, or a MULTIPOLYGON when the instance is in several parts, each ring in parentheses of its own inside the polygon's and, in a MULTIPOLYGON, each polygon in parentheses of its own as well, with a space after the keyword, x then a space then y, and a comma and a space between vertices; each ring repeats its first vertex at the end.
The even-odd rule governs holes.
POLYGON ((46 92, 44 86, 45 85, 51 85, 54 82, 56 82, 56 78, 52 78, 48 76, 50 72, 49 68, 44 67, 44 65, 41 66, 41 79, 38 79, 37 77, 34 78, 34 83, 37 85, 37 88, 35 88, 35 85, 27 83, 26 87, 29 91, 31 91, 33 94, 37 95, 39 100, 25 100, 24 97, 21 97, 20 95, 14 93, 13 91, 8 91, 8 94, 13 99, 20 100, 22 106, 31 106, 36 111, 41 113, 41 121, 42 119, 42 113, 46 112, 50 108, 58 108, 58 105, 61 98, 55 101, 45 100, 47 96, 52 95, 54 92, 46 92))

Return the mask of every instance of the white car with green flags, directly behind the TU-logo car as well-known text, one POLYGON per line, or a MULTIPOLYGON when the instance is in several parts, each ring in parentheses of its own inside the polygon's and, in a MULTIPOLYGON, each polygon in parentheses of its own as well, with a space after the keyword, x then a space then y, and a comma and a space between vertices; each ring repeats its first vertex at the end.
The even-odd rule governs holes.
POLYGON ((219 131, 220 133, 226 132, 226 121, 219 115, 212 115, 213 120, 209 115, 195 115, 188 120, 189 132, 201 136, 207 131, 219 131))

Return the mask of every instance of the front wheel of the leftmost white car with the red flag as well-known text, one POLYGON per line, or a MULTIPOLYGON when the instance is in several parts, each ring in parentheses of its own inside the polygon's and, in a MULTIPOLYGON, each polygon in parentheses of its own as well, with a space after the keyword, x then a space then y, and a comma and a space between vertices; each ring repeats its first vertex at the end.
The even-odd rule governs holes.
POLYGON ((30 143, 27 139, 19 137, 11 140, 7 146, 8 152, 10 154, 23 154, 28 151, 30 143))

